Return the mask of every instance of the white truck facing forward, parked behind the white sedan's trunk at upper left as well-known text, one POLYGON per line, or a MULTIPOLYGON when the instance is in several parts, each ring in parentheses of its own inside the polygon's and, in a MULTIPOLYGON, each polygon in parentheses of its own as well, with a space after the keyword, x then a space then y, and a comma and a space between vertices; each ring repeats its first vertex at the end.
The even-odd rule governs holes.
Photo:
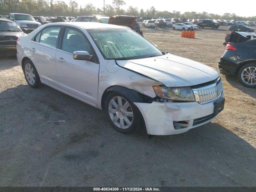
POLYGON ((9 14, 10 20, 13 20, 23 32, 30 33, 36 28, 42 26, 39 22, 37 22, 34 17, 28 14, 21 14, 21 13, 10 13, 9 14))

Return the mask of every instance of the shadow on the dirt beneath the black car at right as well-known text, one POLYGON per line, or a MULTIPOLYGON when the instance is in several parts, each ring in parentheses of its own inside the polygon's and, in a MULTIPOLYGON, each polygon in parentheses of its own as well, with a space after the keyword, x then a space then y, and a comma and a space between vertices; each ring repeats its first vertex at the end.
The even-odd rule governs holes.
POLYGON ((234 86, 235 88, 239 89, 240 91, 244 92, 245 94, 250 95, 252 98, 256 98, 256 88, 248 88, 243 86, 238 77, 233 75, 226 75, 226 80, 230 85, 234 86))

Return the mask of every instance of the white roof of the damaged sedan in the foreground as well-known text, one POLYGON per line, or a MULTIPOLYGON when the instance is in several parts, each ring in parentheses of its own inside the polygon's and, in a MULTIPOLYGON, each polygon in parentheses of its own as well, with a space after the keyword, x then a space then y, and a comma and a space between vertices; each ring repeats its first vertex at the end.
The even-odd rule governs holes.
POLYGON ((51 25, 62 25, 62 26, 78 26, 81 28, 87 29, 118 29, 124 28, 123 26, 112 25, 112 24, 105 24, 105 23, 98 23, 98 22, 58 22, 58 23, 49 23, 45 24, 44 26, 51 26, 51 25))

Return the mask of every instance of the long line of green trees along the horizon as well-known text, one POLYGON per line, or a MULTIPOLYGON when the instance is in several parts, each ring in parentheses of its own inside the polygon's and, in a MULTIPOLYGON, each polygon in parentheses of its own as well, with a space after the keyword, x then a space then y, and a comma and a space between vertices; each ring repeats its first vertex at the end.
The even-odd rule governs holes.
POLYGON ((124 0, 113 0, 112 4, 105 5, 104 8, 96 8, 92 3, 84 7, 78 6, 76 1, 70 0, 66 4, 62 0, 0 0, 0 14, 8 15, 11 12, 26 13, 33 16, 79 16, 87 14, 132 15, 137 17, 168 17, 187 19, 226 19, 226 20, 256 20, 256 16, 242 17, 236 14, 225 13, 223 15, 207 12, 184 12, 179 11, 158 11, 154 6, 149 9, 138 9, 125 5, 124 0))

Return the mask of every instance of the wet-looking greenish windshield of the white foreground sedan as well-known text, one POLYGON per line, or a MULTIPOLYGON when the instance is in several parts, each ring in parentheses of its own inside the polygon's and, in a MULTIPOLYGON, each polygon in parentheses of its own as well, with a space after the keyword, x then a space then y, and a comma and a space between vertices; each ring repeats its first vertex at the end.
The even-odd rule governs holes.
POLYGON ((130 29, 97 28, 87 31, 107 60, 129 60, 162 55, 153 44, 130 29))

